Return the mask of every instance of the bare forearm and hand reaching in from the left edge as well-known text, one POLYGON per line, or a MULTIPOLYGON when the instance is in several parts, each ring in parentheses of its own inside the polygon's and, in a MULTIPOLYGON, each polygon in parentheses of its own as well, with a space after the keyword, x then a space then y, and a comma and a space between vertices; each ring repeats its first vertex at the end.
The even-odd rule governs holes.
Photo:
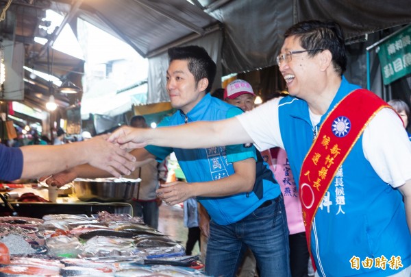
POLYGON ((23 172, 21 178, 38 178, 76 165, 90 165, 119 177, 136 168, 136 158, 102 136, 88 141, 64 145, 29 145, 21 147, 23 172))

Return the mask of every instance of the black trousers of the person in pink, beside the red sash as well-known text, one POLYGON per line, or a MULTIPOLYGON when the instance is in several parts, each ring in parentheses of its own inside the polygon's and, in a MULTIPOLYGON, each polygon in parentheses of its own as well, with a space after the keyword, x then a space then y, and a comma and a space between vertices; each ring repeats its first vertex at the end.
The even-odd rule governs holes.
POLYGON ((308 276, 308 253, 306 232, 290 234, 288 236, 290 242, 290 269, 292 277, 307 277, 308 276))

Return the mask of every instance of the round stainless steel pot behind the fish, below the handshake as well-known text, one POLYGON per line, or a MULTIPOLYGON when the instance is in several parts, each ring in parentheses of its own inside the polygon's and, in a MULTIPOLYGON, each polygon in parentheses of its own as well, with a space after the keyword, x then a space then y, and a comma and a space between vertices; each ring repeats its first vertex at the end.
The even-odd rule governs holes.
POLYGON ((139 180, 132 179, 76 179, 75 194, 81 201, 118 202, 131 200, 139 180))

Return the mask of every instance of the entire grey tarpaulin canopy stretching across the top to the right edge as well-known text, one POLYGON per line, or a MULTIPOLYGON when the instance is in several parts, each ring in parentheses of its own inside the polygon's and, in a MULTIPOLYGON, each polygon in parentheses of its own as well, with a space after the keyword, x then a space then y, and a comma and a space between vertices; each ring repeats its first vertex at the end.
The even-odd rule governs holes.
MULTIPOLYGON (((53 1, 70 11, 71 0, 53 1)), ((293 23, 308 19, 340 23, 347 38, 411 23, 409 0, 77 0, 75 15, 131 45, 141 56, 158 56, 190 36, 224 29, 223 75, 269 67, 293 23), (120 15, 120 16, 119 16, 120 15)))

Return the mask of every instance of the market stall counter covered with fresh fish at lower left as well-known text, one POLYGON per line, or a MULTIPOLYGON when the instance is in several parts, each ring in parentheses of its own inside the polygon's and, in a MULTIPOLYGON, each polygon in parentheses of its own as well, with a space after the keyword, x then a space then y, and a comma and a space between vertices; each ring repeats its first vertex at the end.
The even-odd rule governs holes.
POLYGON ((0 276, 203 276, 198 256, 133 217, 125 202, 76 195, 75 186, 57 191, 55 202, 39 184, 0 188, 0 276))

